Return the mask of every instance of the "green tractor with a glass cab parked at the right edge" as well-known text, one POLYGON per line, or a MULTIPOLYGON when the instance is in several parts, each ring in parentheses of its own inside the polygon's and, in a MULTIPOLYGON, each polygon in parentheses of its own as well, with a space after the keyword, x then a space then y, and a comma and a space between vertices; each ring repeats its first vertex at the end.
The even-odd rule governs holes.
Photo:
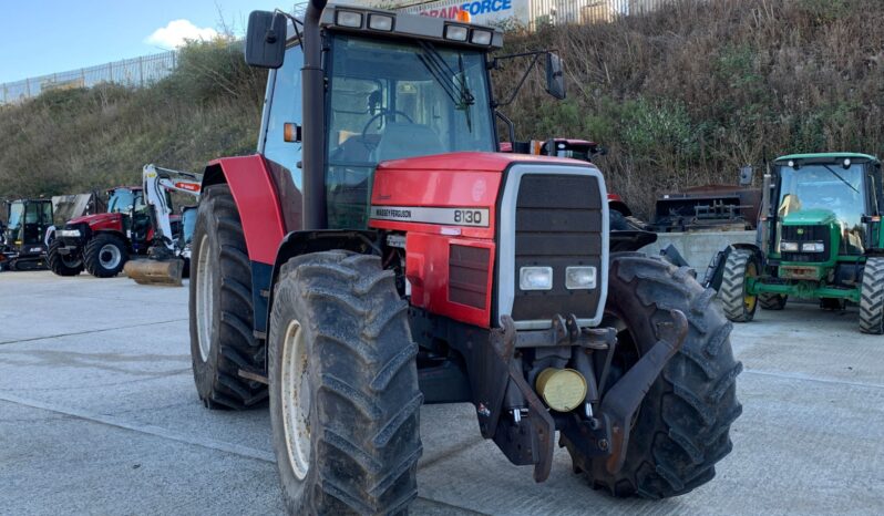
POLYGON ((755 246, 720 255, 719 298, 728 319, 757 306, 782 310, 789 297, 824 309, 860 307, 860 330, 884 332, 881 162, 867 154, 794 154, 764 176, 755 246))

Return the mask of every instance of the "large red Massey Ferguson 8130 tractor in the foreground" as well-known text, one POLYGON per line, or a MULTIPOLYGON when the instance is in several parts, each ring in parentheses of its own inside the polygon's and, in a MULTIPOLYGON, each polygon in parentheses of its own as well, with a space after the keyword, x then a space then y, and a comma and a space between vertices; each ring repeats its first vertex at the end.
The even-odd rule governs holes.
POLYGON ((425 403, 472 403, 536 482, 565 446, 614 496, 687 493, 731 451, 741 364, 713 291, 628 251, 590 163, 496 152, 501 45, 323 0, 249 17, 258 153, 205 169, 191 351, 207 407, 269 398, 292 514, 405 513, 425 403))

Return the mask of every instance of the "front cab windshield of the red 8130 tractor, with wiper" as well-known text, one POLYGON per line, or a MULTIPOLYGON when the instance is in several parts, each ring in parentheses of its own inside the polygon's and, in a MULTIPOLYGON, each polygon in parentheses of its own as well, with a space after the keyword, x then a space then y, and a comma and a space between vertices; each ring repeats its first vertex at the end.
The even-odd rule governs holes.
POLYGON ((483 52, 338 34, 332 55, 330 227, 366 227, 380 162, 495 149, 483 52))

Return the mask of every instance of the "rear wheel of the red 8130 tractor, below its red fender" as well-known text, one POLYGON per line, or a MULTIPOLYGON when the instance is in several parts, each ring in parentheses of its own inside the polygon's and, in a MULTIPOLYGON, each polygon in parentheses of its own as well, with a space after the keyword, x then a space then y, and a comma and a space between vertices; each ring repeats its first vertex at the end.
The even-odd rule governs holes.
POLYGON ((264 370, 264 343, 253 334, 251 268, 239 211, 227 185, 199 203, 191 255, 191 360, 196 392, 209 409, 243 410, 267 388, 239 370, 264 370))

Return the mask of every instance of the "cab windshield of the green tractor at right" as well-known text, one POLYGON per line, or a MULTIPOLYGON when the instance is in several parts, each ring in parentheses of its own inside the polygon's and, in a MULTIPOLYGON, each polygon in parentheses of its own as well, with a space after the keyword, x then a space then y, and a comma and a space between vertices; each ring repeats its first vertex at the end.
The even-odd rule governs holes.
POLYGON ((809 210, 832 211, 841 225, 842 251, 862 249, 866 211, 863 195, 864 166, 852 164, 812 164, 800 168, 780 167, 780 200, 778 216, 809 210))

